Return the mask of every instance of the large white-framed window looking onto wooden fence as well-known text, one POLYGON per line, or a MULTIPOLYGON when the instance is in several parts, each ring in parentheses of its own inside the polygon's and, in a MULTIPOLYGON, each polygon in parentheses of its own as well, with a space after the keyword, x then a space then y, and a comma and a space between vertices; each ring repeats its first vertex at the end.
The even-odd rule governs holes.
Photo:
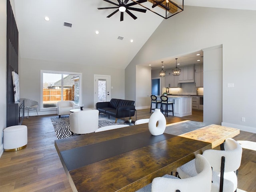
POLYGON ((41 70, 41 108, 56 108, 59 101, 80 106, 82 73, 41 70))

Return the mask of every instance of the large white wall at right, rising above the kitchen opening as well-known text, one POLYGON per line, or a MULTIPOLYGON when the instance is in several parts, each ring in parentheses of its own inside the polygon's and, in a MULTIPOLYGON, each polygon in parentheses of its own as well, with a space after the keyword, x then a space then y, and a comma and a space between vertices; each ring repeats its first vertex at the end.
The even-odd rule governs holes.
MULTIPOLYGON (((185 6, 183 12, 160 24, 129 65, 134 67, 222 44, 222 122, 256 132, 255 20, 256 11, 252 10, 185 6), (227 83, 234 83, 234 88, 227 88, 227 83), (242 122, 241 117, 246 121, 242 122)), ((204 67, 207 65, 204 62, 204 67)), ((126 90, 133 91, 133 87, 126 90)))

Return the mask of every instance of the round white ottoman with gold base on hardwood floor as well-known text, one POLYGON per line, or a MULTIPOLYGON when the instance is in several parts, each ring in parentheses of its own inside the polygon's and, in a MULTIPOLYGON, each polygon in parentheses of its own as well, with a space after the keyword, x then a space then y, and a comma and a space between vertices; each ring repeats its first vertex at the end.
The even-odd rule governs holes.
POLYGON ((4 129, 4 151, 18 151, 27 146, 28 128, 25 125, 15 125, 4 129))

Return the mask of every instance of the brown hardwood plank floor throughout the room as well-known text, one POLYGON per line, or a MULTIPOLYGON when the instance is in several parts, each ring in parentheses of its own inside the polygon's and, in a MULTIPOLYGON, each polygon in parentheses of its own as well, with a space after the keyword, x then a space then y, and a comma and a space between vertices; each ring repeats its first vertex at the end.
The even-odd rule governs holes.
MULTIPOLYGON (((28 145, 17 152, 2 154, 0 192, 72 192, 54 147, 54 140, 57 138, 50 117, 53 116, 24 119, 23 124, 28 126, 28 145)), ((149 117, 149 109, 137 110, 137 119, 149 117)), ((203 121, 200 111, 193 111, 191 116, 184 118, 168 116, 166 119, 168 123, 181 120, 203 121)), ((255 192, 256 134, 241 131, 234 139, 254 144, 254 149, 243 148, 242 164, 238 171, 238 188, 255 192)))

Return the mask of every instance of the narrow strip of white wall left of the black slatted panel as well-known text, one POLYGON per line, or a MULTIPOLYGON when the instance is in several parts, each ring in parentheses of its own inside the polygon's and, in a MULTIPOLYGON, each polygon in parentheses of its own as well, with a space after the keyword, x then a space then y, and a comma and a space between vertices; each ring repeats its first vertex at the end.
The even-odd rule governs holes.
POLYGON ((4 151, 2 131, 6 128, 6 0, 0 0, 0 156, 4 151))

